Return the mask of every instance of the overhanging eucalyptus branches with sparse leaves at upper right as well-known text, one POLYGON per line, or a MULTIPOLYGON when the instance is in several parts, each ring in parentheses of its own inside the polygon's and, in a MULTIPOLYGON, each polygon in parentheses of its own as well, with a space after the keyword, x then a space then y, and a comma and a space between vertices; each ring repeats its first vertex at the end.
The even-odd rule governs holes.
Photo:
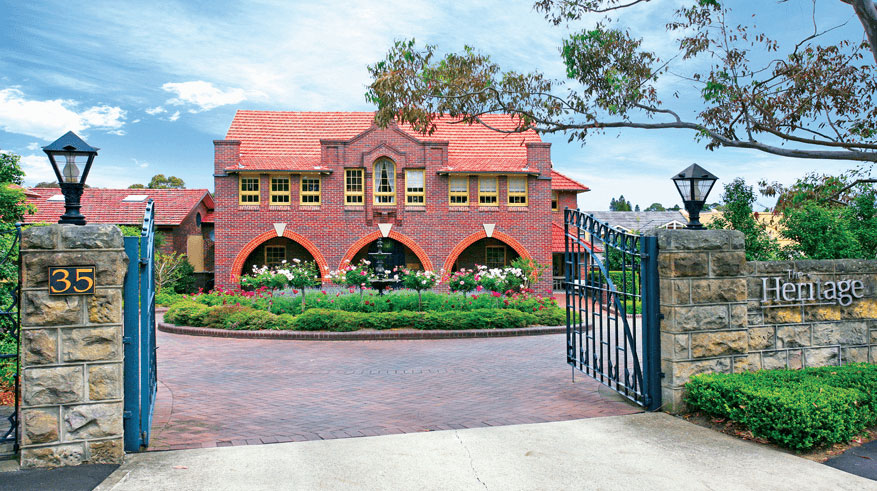
POLYGON ((664 21, 676 42, 662 58, 620 22, 633 9, 653 9, 655 19, 668 15, 657 2, 539 0, 535 9, 570 31, 559 47, 564 80, 505 70, 472 47, 442 55, 411 39, 368 67, 366 99, 378 107, 378 124, 407 123, 424 134, 435 130, 439 115, 500 132, 563 133, 582 143, 607 129, 681 129, 711 150, 873 165, 877 4, 831 0, 852 7, 850 21, 857 17, 864 27, 861 36, 838 38, 850 27, 819 26, 812 1, 812 25, 795 26, 776 18, 756 24, 759 7, 741 22, 731 2, 689 0, 664 21), (792 29, 799 31, 795 41, 774 39, 792 29), (683 102, 672 84, 662 84, 667 78, 696 88, 696 100, 683 102), (491 126, 483 116, 493 113, 511 114, 514 124, 491 126))

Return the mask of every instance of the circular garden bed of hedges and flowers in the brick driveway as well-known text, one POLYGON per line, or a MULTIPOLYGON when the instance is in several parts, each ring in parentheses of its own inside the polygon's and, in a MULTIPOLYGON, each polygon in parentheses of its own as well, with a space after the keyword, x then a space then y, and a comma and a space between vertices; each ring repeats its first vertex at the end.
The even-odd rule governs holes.
POLYGON ((223 291, 177 298, 160 329, 222 337, 425 339, 563 332, 566 312, 551 297, 424 292, 273 293, 223 291), (232 334, 234 333, 234 334, 232 334), (258 334, 257 334, 258 333, 258 334))

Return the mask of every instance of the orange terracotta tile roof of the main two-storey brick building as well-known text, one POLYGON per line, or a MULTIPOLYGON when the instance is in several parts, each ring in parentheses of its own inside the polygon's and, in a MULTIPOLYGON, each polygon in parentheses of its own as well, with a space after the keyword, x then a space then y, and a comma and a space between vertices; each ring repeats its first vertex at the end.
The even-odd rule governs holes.
MULTIPOLYGON (((511 129, 510 116, 484 116, 493 127, 511 129)), ((238 111, 226 139, 241 141, 241 165, 226 170, 322 170, 320 140, 349 140, 372 127, 371 112, 238 111)), ((440 121, 432 135, 409 125, 399 128, 419 141, 448 142, 445 171, 522 172, 528 142, 541 142, 535 131, 505 134, 481 125, 440 121)))

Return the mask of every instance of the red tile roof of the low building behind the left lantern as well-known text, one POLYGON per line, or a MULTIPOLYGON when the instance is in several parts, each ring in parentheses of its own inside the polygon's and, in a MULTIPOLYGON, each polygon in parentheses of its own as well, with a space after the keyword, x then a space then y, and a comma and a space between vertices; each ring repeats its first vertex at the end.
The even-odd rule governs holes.
MULTIPOLYGON (((61 194, 59 188, 31 188, 36 198, 28 198, 37 212, 25 217, 27 223, 55 223, 64 214, 64 201, 47 201, 61 194)), ((179 225, 192 209, 205 201, 213 209, 213 197, 206 189, 97 189, 88 188, 82 193, 82 214, 89 223, 113 223, 116 225, 140 225, 146 201, 123 202, 126 196, 146 195, 155 202, 156 225, 179 225)), ((203 221, 203 219, 202 219, 203 221)))

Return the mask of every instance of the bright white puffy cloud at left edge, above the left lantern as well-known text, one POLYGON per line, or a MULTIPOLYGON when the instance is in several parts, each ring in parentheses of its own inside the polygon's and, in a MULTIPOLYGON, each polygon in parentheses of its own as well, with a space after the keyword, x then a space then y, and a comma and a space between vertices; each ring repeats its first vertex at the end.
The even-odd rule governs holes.
POLYGON ((0 128, 9 133, 52 141, 67 131, 89 128, 119 130, 125 125, 125 110, 109 105, 78 111, 70 99, 28 99, 16 88, 0 90, 0 128))

